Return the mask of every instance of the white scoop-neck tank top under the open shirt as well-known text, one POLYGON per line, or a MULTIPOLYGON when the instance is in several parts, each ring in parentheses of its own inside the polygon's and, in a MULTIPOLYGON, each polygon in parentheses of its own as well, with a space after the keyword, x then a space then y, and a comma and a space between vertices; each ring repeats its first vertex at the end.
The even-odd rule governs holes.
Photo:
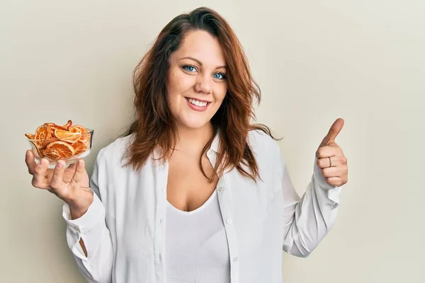
POLYGON ((217 192, 183 212, 167 202, 166 283, 229 283, 230 262, 217 192))

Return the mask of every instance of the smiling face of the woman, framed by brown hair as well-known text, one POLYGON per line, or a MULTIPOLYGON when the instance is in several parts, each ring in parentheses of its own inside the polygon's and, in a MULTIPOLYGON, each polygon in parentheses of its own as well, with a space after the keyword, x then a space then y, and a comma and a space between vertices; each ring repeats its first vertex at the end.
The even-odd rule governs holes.
POLYGON ((215 37, 186 33, 169 58, 167 104, 179 128, 208 125, 227 93, 225 57, 215 37))

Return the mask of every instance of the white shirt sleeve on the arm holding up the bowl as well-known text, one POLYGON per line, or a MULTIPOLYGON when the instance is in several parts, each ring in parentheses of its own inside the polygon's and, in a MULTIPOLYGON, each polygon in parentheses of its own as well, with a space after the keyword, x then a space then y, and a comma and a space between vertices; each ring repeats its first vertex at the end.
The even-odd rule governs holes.
POLYGON ((71 220, 68 204, 64 204, 62 216, 67 224, 67 243, 72 251, 77 267, 87 282, 112 282, 113 248, 111 233, 106 226, 105 207, 101 202, 98 187, 99 157, 90 179, 94 199, 87 212, 78 219, 71 220), (87 256, 79 243, 84 241, 87 256))

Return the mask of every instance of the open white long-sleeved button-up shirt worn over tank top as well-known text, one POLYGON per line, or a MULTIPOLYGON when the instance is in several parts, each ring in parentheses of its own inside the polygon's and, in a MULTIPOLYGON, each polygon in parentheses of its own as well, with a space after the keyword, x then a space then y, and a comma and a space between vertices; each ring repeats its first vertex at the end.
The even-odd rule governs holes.
MULTIPOLYGON (((99 151, 91 176, 94 201, 79 219, 69 220, 67 243, 88 282, 166 283, 164 238, 168 163, 149 159, 138 172, 123 167, 131 136, 99 151), (87 257, 79 245, 82 238, 87 257)), ((215 137, 207 156, 215 165, 215 137)), ((232 283, 282 282, 282 254, 306 257, 334 225, 341 187, 328 185, 314 159, 312 179, 300 198, 276 141, 251 131, 262 180, 234 169, 217 183, 225 223, 232 283)))

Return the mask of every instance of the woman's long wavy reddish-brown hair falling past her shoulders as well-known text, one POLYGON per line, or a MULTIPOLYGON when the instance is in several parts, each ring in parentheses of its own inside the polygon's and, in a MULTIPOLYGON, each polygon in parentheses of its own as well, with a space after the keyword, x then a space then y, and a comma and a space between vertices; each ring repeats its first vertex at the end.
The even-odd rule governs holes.
MULTIPOLYGON (((261 130, 273 138, 268 127, 250 122, 255 119, 253 100, 256 98, 260 103, 261 91, 251 77, 249 64, 232 28, 217 12, 205 7, 176 16, 163 28, 152 48, 137 64, 133 73, 136 119, 125 134, 134 133, 135 137, 124 155, 128 158, 126 165, 140 170, 154 150, 161 150, 160 159, 163 161, 173 153, 178 132, 166 104, 166 73, 170 54, 179 49, 184 35, 191 30, 205 30, 216 37, 227 63, 227 93, 211 119, 215 134, 220 130, 214 172, 220 175, 227 168, 237 168, 239 173, 255 181, 259 178, 259 168, 247 144, 248 132, 261 130)), ((202 155, 210 148, 215 134, 205 144, 202 155)), ((215 173, 208 177, 201 160, 199 164, 205 177, 212 181, 215 173)))

